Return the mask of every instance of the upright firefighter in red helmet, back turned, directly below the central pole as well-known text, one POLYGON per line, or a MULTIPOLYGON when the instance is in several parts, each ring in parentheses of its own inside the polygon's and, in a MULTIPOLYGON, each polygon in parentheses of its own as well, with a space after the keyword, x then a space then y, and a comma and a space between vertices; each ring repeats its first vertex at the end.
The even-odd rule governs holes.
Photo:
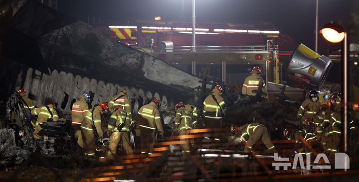
POLYGON ((222 94, 223 89, 217 85, 203 101, 203 125, 206 128, 219 128, 222 126, 222 115, 227 108, 222 94))

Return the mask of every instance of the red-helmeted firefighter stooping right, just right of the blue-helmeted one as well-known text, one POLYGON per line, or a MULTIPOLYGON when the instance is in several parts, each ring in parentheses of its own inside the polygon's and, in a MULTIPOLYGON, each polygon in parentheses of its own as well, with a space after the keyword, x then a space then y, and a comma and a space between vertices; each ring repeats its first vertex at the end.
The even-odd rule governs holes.
POLYGON ((101 102, 98 106, 87 111, 81 123, 82 139, 85 148, 84 156, 87 159, 95 157, 95 134, 98 135, 98 139, 103 138, 101 117, 108 109, 107 103, 101 102))

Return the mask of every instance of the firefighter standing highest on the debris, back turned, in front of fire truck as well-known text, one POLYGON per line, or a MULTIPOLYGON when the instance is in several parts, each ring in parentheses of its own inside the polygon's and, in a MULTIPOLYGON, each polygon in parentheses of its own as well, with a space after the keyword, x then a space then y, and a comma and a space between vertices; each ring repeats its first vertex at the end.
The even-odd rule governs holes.
POLYGON ((262 97, 268 99, 268 92, 266 85, 261 75, 261 70, 259 67, 254 67, 250 72, 250 76, 244 80, 242 87, 243 95, 256 96, 258 89, 262 87, 262 97))

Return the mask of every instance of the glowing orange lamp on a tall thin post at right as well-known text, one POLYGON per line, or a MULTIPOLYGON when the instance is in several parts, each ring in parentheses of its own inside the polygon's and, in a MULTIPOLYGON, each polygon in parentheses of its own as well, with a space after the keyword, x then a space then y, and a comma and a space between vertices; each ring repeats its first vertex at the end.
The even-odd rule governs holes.
MULTIPOLYGON (((344 104, 341 105, 342 107, 342 131, 343 131, 343 143, 344 143, 344 152, 347 152, 347 128, 348 128, 348 36, 347 33, 344 31, 343 27, 340 26, 338 23, 331 21, 328 24, 324 25, 324 28, 320 31, 320 33, 327 39, 329 42, 338 43, 342 42, 342 91, 343 91, 343 101, 344 104)), ((345 160, 346 162, 346 160, 345 160)))

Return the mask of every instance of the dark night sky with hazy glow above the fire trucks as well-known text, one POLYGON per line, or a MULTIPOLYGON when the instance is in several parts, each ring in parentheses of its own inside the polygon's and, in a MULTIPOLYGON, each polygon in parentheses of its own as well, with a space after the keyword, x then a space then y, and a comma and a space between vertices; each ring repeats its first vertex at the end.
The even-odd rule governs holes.
MULTIPOLYGON (((269 21, 275 29, 314 49, 316 0, 196 0, 197 22, 256 23, 269 21)), ((87 22, 96 16, 107 20, 191 21, 191 0, 59 0, 59 10, 87 22)), ((331 20, 347 26, 348 0, 319 0, 319 28, 331 20)), ((319 37, 319 49, 327 50, 319 37)), ((336 49, 338 45, 330 45, 336 49)))

